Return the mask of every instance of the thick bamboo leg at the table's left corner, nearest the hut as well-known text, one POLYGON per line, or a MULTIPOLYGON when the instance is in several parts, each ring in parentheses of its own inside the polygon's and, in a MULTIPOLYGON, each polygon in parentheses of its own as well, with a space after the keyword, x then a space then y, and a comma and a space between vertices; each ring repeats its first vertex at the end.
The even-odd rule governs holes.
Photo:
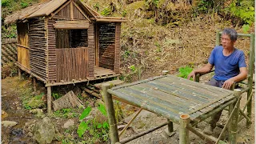
POLYGON ((111 143, 115 143, 115 142, 119 142, 118 126, 117 126, 117 122, 114 114, 114 105, 113 105, 112 95, 107 92, 108 89, 110 89, 110 84, 108 83, 102 84, 103 98, 106 105, 107 117, 110 124, 110 139, 111 139, 111 143))

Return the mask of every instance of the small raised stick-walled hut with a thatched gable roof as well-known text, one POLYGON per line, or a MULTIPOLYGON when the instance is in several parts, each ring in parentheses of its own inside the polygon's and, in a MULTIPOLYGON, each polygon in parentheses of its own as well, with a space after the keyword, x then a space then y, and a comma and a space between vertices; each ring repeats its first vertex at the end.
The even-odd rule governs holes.
POLYGON ((6 17, 5 23, 14 22, 19 74, 46 84, 48 110, 51 86, 118 76, 126 18, 102 17, 79 0, 51 0, 6 17))

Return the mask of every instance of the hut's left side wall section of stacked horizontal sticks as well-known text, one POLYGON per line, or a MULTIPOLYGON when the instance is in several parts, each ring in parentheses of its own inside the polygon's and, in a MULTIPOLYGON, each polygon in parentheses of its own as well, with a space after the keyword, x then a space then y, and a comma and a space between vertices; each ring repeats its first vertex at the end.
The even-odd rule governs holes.
POLYGON ((46 19, 30 21, 30 67, 31 72, 47 79, 46 19))

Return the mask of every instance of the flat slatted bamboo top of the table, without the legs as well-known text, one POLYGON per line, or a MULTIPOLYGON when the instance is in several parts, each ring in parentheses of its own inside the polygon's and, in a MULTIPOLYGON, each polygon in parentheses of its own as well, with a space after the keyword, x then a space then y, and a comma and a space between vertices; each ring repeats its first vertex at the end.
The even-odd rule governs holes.
POLYGON ((134 106, 160 114, 178 123, 181 114, 193 121, 215 107, 234 99, 233 91, 174 75, 164 75, 107 90, 134 106))

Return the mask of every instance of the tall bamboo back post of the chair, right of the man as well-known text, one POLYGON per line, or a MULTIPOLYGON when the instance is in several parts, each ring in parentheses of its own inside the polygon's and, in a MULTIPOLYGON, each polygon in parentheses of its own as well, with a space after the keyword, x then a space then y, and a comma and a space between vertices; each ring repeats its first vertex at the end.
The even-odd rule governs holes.
MULTIPOLYGON (((250 78, 248 78, 248 87, 249 90, 247 92, 247 100, 249 100, 250 94, 252 93, 252 86, 253 86, 253 75, 254 75, 254 34, 250 34, 250 61, 249 61, 249 74, 250 78)), ((248 102, 247 105, 247 116, 251 119, 251 106, 252 100, 248 102)), ((250 122, 246 121, 246 126, 250 126, 250 122)))

